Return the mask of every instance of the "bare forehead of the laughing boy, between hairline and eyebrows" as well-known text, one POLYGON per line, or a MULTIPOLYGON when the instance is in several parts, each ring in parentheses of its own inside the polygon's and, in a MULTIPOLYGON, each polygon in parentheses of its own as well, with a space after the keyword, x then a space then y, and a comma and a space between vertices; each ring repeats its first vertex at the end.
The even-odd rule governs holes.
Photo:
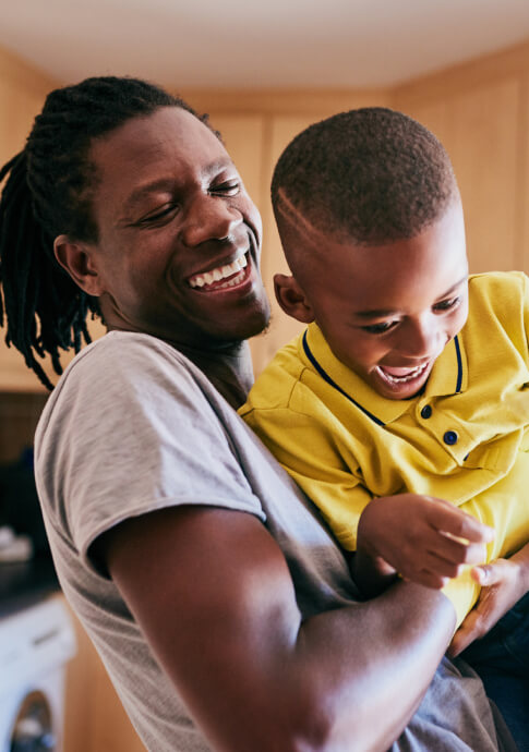
POLYGON ((458 202, 413 238, 380 244, 359 243, 332 227, 323 232, 286 195, 276 211, 287 259, 305 292, 325 287, 351 310, 412 307, 416 300, 441 298, 468 274, 458 202))

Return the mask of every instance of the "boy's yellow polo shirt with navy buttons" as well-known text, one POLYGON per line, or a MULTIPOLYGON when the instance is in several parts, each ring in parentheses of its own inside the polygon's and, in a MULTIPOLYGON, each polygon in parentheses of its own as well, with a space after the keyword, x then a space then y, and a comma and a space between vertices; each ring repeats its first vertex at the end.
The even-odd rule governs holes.
MULTIPOLYGON (((447 499, 495 529, 488 561, 529 539, 529 287, 522 272, 474 275, 469 317, 425 389, 388 400, 336 359, 315 324, 279 350, 240 414, 356 547, 373 497, 447 499)), ((406 524, 406 520, 402 520, 406 524)), ((445 590, 458 623, 479 587, 445 590)))

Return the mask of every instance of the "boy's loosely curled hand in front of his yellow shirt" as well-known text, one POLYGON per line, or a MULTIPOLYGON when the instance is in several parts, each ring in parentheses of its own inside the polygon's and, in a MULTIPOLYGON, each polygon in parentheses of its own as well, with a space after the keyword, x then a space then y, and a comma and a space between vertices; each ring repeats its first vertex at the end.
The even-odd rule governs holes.
MULTIPOLYGON (((373 499, 358 526, 360 558, 383 559, 406 580, 440 589, 464 565, 481 563, 494 531, 443 499, 399 494, 373 499)), ((386 572, 387 573, 387 572, 386 572)))

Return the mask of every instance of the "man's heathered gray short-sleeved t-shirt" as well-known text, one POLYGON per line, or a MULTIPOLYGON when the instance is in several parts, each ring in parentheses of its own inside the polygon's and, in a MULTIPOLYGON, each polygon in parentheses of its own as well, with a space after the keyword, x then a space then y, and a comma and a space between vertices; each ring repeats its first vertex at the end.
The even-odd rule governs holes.
MULTIPOLYGON (((152 752, 211 748, 91 556, 101 533, 178 505, 248 512, 282 549, 304 617, 354 603, 348 567, 318 512, 204 374, 158 339, 116 331, 83 350, 48 400, 35 450, 61 586, 152 752)), ((394 749, 504 748, 479 680, 444 662, 394 749)))

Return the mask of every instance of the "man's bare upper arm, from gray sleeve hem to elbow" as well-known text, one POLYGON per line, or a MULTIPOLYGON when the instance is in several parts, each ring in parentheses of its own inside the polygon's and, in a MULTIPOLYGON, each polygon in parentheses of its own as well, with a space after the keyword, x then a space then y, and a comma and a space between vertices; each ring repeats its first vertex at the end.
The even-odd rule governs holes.
POLYGON ((244 512, 167 509, 122 523, 104 553, 215 749, 248 747, 275 714, 300 627, 288 567, 264 525, 244 512))

